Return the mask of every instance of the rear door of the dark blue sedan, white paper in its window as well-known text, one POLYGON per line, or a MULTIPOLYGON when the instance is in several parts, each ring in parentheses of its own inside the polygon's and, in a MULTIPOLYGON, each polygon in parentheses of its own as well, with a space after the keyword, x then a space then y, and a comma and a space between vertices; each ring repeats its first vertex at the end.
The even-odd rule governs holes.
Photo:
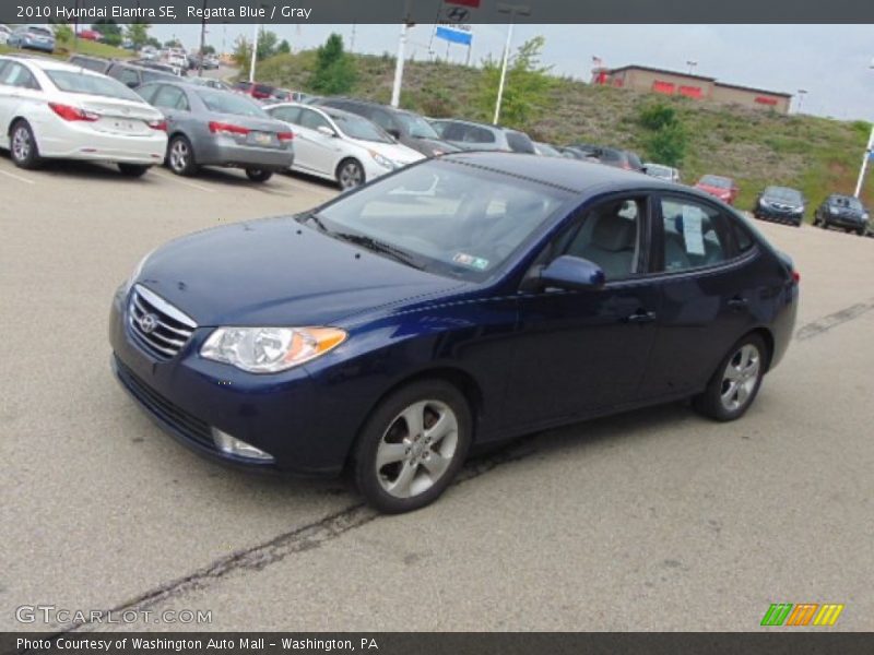
POLYGON ((653 198, 653 265, 661 289, 658 336, 641 384, 646 398, 700 391, 768 302, 754 242, 741 243, 734 216, 683 193, 653 198))

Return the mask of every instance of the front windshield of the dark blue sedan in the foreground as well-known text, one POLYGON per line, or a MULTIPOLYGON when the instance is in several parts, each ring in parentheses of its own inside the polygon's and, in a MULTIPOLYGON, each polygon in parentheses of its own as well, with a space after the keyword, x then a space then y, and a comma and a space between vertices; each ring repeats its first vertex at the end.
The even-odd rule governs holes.
POLYGON ((432 159, 342 196, 316 217, 335 238, 367 239, 371 249, 376 243, 382 252, 400 253, 410 265, 482 281, 568 198, 538 182, 432 159))

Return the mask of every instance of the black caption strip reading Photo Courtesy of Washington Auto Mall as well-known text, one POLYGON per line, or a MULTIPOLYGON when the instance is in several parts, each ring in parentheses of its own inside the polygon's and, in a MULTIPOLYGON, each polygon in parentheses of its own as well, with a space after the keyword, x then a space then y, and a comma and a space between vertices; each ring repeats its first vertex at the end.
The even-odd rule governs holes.
POLYGON ((874 633, 778 629, 759 633, 3 633, 0 653, 33 655, 855 655, 874 633))

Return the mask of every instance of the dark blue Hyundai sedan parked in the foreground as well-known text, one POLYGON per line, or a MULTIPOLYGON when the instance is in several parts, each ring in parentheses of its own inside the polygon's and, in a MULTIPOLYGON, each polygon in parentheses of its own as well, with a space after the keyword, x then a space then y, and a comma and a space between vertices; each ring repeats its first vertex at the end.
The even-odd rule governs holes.
POLYGON ((110 340, 121 384, 193 449, 349 469, 402 512, 472 444, 685 397, 740 417, 798 295, 791 260, 704 193, 470 153, 155 250, 110 340))

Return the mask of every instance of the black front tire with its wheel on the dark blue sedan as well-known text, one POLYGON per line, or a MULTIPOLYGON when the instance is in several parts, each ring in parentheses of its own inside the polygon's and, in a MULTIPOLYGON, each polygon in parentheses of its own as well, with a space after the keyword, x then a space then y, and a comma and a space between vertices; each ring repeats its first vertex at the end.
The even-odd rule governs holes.
POLYGON ((355 486, 370 507, 386 514, 423 508, 451 484, 464 464, 472 434, 471 410, 457 388, 442 380, 413 382, 383 400, 362 428, 351 461, 355 486), (403 415, 416 414, 420 407, 423 429, 412 434, 403 415), (435 430, 444 419, 445 427, 454 425, 456 429, 428 437, 429 429, 435 430), (429 428, 428 420, 437 422, 429 428), (381 448, 383 453, 394 449, 398 454, 387 454, 386 463, 377 468, 381 448), (436 479, 433 471, 439 472, 436 479), (404 476, 408 472, 412 473, 404 476), (402 478, 410 481, 403 485, 402 478), (400 491, 390 492, 392 485, 400 491))

